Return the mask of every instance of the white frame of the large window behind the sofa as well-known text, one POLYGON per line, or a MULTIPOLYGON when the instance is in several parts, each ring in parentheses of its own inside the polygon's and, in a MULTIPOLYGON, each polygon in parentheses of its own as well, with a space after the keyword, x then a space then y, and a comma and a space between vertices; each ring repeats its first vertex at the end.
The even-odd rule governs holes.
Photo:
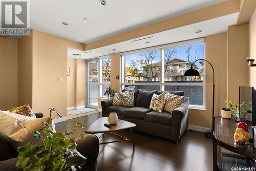
MULTIPOLYGON (((198 110, 205 110, 206 108, 206 95, 205 95, 205 87, 206 87, 206 65, 205 61, 204 62, 204 75, 203 75, 203 82, 164 82, 164 74, 163 74, 163 69, 164 69, 164 50, 165 49, 173 49, 173 48, 179 48, 179 47, 185 47, 189 45, 198 45, 198 44, 204 44, 204 54, 203 54, 203 59, 206 59, 205 55, 205 38, 197 38, 197 39, 192 39, 192 40, 186 40, 186 41, 180 41, 180 42, 174 42, 172 44, 166 44, 166 45, 161 45, 157 47, 150 47, 150 48, 145 48, 145 49, 140 49, 140 50, 134 50, 134 51, 129 51, 129 52, 123 52, 120 54, 121 60, 120 60, 120 71, 121 71, 121 78, 120 78, 120 89, 124 89, 125 85, 129 86, 160 86, 160 91, 164 91, 164 86, 203 86, 203 105, 193 105, 189 104, 189 109, 198 109, 198 110), (149 52, 149 51, 160 51, 160 82, 141 82, 141 83, 125 83, 125 56, 127 55, 133 55, 133 54, 138 54, 138 53, 143 53, 143 52, 149 52)), ((186 66, 185 66, 186 69, 186 66)))

